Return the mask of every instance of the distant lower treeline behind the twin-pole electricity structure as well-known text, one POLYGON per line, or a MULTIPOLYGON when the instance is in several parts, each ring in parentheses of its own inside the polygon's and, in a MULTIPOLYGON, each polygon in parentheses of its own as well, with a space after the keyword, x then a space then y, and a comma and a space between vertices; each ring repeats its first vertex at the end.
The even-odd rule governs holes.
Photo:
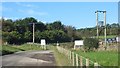
MULTIPOLYGON (((107 24, 106 25, 106 34, 107 35, 115 35, 120 36, 120 23, 113 23, 113 24, 107 24)), ((84 28, 84 29, 78 29, 77 32, 82 37, 93 37, 97 35, 97 28, 84 28)), ((104 36, 104 26, 99 27, 99 36, 104 36)))

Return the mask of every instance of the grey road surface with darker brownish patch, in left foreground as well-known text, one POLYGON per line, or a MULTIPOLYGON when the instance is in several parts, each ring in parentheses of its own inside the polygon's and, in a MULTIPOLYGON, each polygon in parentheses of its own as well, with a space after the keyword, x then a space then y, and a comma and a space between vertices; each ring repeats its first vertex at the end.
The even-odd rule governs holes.
POLYGON ((25 51, 2 56, 2 66, 55 66, 52 51, 25 51))

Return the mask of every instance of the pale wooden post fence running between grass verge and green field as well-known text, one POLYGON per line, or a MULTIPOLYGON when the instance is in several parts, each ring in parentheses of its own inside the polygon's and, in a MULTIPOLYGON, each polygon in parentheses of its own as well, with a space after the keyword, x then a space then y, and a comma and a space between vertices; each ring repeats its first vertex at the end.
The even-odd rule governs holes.
POLYGON ((72 66, 81 66, 81 67, 86 67, 86 68, 89 66, 98 68, 100 66, 97 62, 93 62, 89 60, 88 58, 75 54, 75 52, 62 48, 60 46, 57 46, 57 50, 60 53, 65 54, 68 57, 69 59, 68 62, 70 62, 72 66))

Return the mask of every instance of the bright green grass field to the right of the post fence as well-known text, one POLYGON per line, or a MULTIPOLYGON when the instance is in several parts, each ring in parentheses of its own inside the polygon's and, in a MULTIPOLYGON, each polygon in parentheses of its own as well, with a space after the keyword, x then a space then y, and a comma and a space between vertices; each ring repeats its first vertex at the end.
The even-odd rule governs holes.
POLYGON ((118 52, 115 50, 111 51, 91 51, 91 52, 83 52, 79 50, 73 50, 71 43, 61 43, 61 47, 65 49, 69 49, 74 51, 75 53, 83 56, 85 58, 89 58, 92 61, 98 62, 102 66, 118 66, 118 52), (111 62, 112 61, 112 62, 111 62))

